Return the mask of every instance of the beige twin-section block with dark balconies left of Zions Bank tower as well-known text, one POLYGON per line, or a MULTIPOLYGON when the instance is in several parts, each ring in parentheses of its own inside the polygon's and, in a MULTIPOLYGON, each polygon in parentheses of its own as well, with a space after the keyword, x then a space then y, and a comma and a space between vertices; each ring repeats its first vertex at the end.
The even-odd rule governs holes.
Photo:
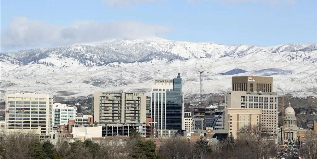
POLYGON ((94 92, 94 123, 146 123, 146 95, 94 92))

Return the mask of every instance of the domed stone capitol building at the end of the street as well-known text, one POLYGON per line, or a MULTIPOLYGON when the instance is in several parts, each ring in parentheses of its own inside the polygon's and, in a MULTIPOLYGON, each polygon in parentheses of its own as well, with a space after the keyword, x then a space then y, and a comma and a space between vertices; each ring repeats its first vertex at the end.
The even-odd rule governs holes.
POLYGON ((284 118, 284 128, 285 128, 285 137, 284 143, 295 143, 298 140, 298 130, 297 120, 295 116, 295 111, 291 107, 291 103, 288 103, 288 107, 285 109, 285 118, 284 118))

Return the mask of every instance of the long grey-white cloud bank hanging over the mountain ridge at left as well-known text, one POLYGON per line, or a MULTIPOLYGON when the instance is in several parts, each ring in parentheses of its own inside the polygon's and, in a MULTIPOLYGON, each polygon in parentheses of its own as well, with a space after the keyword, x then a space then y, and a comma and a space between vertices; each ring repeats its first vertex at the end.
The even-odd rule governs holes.
POLYGON ((53 25, 44 21, 16 17, 1 32, 1 47, 16 50, 30 47, 63 46, 115 38, 161 36, 170 32, 167 26, 138 21, 97 23, 76 21, 70 25, 53 25))

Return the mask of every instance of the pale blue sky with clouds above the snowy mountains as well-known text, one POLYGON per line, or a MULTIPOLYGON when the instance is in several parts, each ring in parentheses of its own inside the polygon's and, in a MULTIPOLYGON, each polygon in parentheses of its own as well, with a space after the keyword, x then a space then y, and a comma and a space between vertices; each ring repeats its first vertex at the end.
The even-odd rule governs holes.
POLYGON ((0 0, 0 52, 108 39, 316 43, 316 0, 0 0))

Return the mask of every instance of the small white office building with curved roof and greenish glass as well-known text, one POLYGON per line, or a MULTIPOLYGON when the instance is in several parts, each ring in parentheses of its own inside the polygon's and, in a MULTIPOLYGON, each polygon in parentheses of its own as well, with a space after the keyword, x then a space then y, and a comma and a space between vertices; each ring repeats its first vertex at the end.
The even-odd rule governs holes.
POLYGON ((53 104, 54 112, 54 129, 57 130, 57 125, 67 125, 68 120, 74 119, 77 115, 77 107, 70 106, 67 104, 54 103, 53 104))

